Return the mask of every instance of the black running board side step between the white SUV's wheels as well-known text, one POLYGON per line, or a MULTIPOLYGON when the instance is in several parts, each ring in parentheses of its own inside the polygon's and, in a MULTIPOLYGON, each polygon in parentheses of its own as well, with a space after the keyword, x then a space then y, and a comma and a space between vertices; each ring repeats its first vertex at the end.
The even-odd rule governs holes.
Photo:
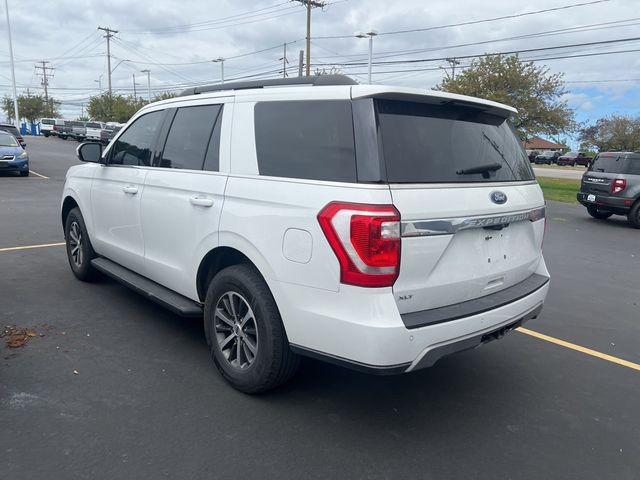
POLYGON ((132 272, 106 258, 94 258, 91 265, 98 271, 108 275, 117 282, 131 288, 136 293, 147 297, 163 307, 183 317, 201 317, 202 305, 169 290, 166 287, 132 272))

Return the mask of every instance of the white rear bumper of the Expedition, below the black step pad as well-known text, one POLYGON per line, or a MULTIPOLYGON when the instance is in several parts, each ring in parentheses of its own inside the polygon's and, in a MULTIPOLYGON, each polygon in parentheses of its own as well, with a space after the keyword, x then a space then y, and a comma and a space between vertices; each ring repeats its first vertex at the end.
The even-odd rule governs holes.
POLYGON ((389 375, 429 367, 536 318, 549 289, 544 261, 536 273, 544 282, 508 303, 416 328, 405 325, 391 289, 341 285, 331 292, 267 281, 295 352, 389 375))

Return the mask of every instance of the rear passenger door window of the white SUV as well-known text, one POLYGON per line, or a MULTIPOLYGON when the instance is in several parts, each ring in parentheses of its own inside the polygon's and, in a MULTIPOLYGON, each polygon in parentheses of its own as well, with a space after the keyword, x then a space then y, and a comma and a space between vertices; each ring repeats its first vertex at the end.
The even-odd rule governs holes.
POLYGON ((220 105, 182 107, 176 112, 159 167, 202 170, 220 105))

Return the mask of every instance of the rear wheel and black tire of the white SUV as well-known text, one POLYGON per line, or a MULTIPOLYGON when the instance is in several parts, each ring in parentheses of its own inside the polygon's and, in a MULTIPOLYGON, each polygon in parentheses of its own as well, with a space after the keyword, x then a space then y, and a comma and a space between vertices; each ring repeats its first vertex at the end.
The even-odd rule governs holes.
POLYGON ((273 389, 289 380, 298 368, 299 358, 289 348, 276 302, 252 265, 233 265, 213 278, 204 305, 204 330, 218 370, 241 392, 273 389), (235 316, 228 315, 230 312, 235 316), (249 316, 252 320, 240 323, 249 316))

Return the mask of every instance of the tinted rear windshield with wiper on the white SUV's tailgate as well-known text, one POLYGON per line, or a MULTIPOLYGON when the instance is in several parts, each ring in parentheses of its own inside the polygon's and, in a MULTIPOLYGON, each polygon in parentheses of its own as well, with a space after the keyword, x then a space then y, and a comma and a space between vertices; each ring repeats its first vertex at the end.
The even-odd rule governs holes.
POLYGON ((463 105, 376 101, 391 183, 533 180, 508 120, 463 105))

